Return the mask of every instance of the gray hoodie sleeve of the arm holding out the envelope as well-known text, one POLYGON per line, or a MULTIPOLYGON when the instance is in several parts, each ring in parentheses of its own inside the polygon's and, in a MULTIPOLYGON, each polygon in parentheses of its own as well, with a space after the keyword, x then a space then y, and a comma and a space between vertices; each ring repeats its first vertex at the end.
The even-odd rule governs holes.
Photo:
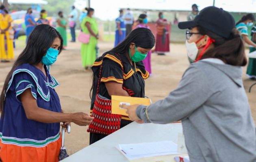
POLYGON ((144 122, 167 124, 186 119, 213 95, 208 79, 193 64, 184 72, 178 87, 169 96, 149 107, 140 105, 136 113, 144 122))

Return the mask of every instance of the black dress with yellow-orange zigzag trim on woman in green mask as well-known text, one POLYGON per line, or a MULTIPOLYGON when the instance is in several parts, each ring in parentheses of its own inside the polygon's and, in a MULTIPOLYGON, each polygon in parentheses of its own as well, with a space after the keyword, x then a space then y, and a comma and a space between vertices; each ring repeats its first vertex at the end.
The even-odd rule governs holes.
MULTIPOLYGON (((115 53, 108 53, 102 55, 96 59, 93 64, 92 70, 95 76, 92 100, 91 100, 91 112, 94 106, 94 100, 97 91, 98 77, 100 65, 102 65, 102 75, 100 83, 100 95, 104 98, 111 99, 104 83, 114 81, 116 83, 123 84, 123 89, 128 91, 132 97, 145 97, 145 81, 149 77, 149 72, 145 70, 143 62, 133 62, 133 66, 130 64, 126 55, 117 57, 115 53), (121 64, 121 61, 123 64, 121 64), (124 73, 121 66, 124 67, 124 73)), ((128 116, 121 117, 120 128, 130 124, 131 121, 128 116)), ((90 133, 90 144, 104 138, 106 135, 90 133)))

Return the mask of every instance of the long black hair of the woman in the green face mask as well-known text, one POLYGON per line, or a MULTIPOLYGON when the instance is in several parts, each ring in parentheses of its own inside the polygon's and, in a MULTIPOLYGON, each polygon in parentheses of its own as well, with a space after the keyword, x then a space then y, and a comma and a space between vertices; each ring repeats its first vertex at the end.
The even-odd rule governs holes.
MULTIPOLYGON (((147 28, 137 28, 135 30, 132 30, 132 32, 130 32, 130 34, 126 36, 126 38, 121 43, 119 43, 116 47, 114 47, 110 51, 105 52, 102 56, 100 56, 99 60, 102 60, 106 54, 111 52, 128 56, 131 43, 135 43, 136 47, 141 47, 144 49, 152 49, 155 45, 155 42, 156 40, 151 30, 147 28)), ((95 83, 95 75, 93 75, 93 82, 90 90, 91 98, 92 98, 94 83, 95 83)))

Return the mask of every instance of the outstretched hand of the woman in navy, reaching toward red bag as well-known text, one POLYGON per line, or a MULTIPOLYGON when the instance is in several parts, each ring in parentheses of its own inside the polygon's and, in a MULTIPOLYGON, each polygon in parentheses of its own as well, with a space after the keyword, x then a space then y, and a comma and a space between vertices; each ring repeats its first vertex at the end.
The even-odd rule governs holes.
POLYGON ((90 115, 86 113, 73 113, 71 119, 72 122, 78 126, 88 126, 91 124, 94 117, 90 117, 90 115))

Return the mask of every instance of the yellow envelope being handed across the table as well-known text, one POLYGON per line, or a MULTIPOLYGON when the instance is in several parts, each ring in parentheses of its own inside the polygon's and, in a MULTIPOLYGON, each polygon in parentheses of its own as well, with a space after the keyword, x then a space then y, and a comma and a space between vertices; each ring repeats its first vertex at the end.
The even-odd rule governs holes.
POLYGON ((134 104, 143 104, 143 105, 150 105, 149 98, 139 98, 139 97, 125 97, 125 96, 111 96, 111 113, 112 114, 119 114, 119 115, 126 115, 126 109, 122 109, 119 107, 120 104, 125 105, 134 105, 134 104))

